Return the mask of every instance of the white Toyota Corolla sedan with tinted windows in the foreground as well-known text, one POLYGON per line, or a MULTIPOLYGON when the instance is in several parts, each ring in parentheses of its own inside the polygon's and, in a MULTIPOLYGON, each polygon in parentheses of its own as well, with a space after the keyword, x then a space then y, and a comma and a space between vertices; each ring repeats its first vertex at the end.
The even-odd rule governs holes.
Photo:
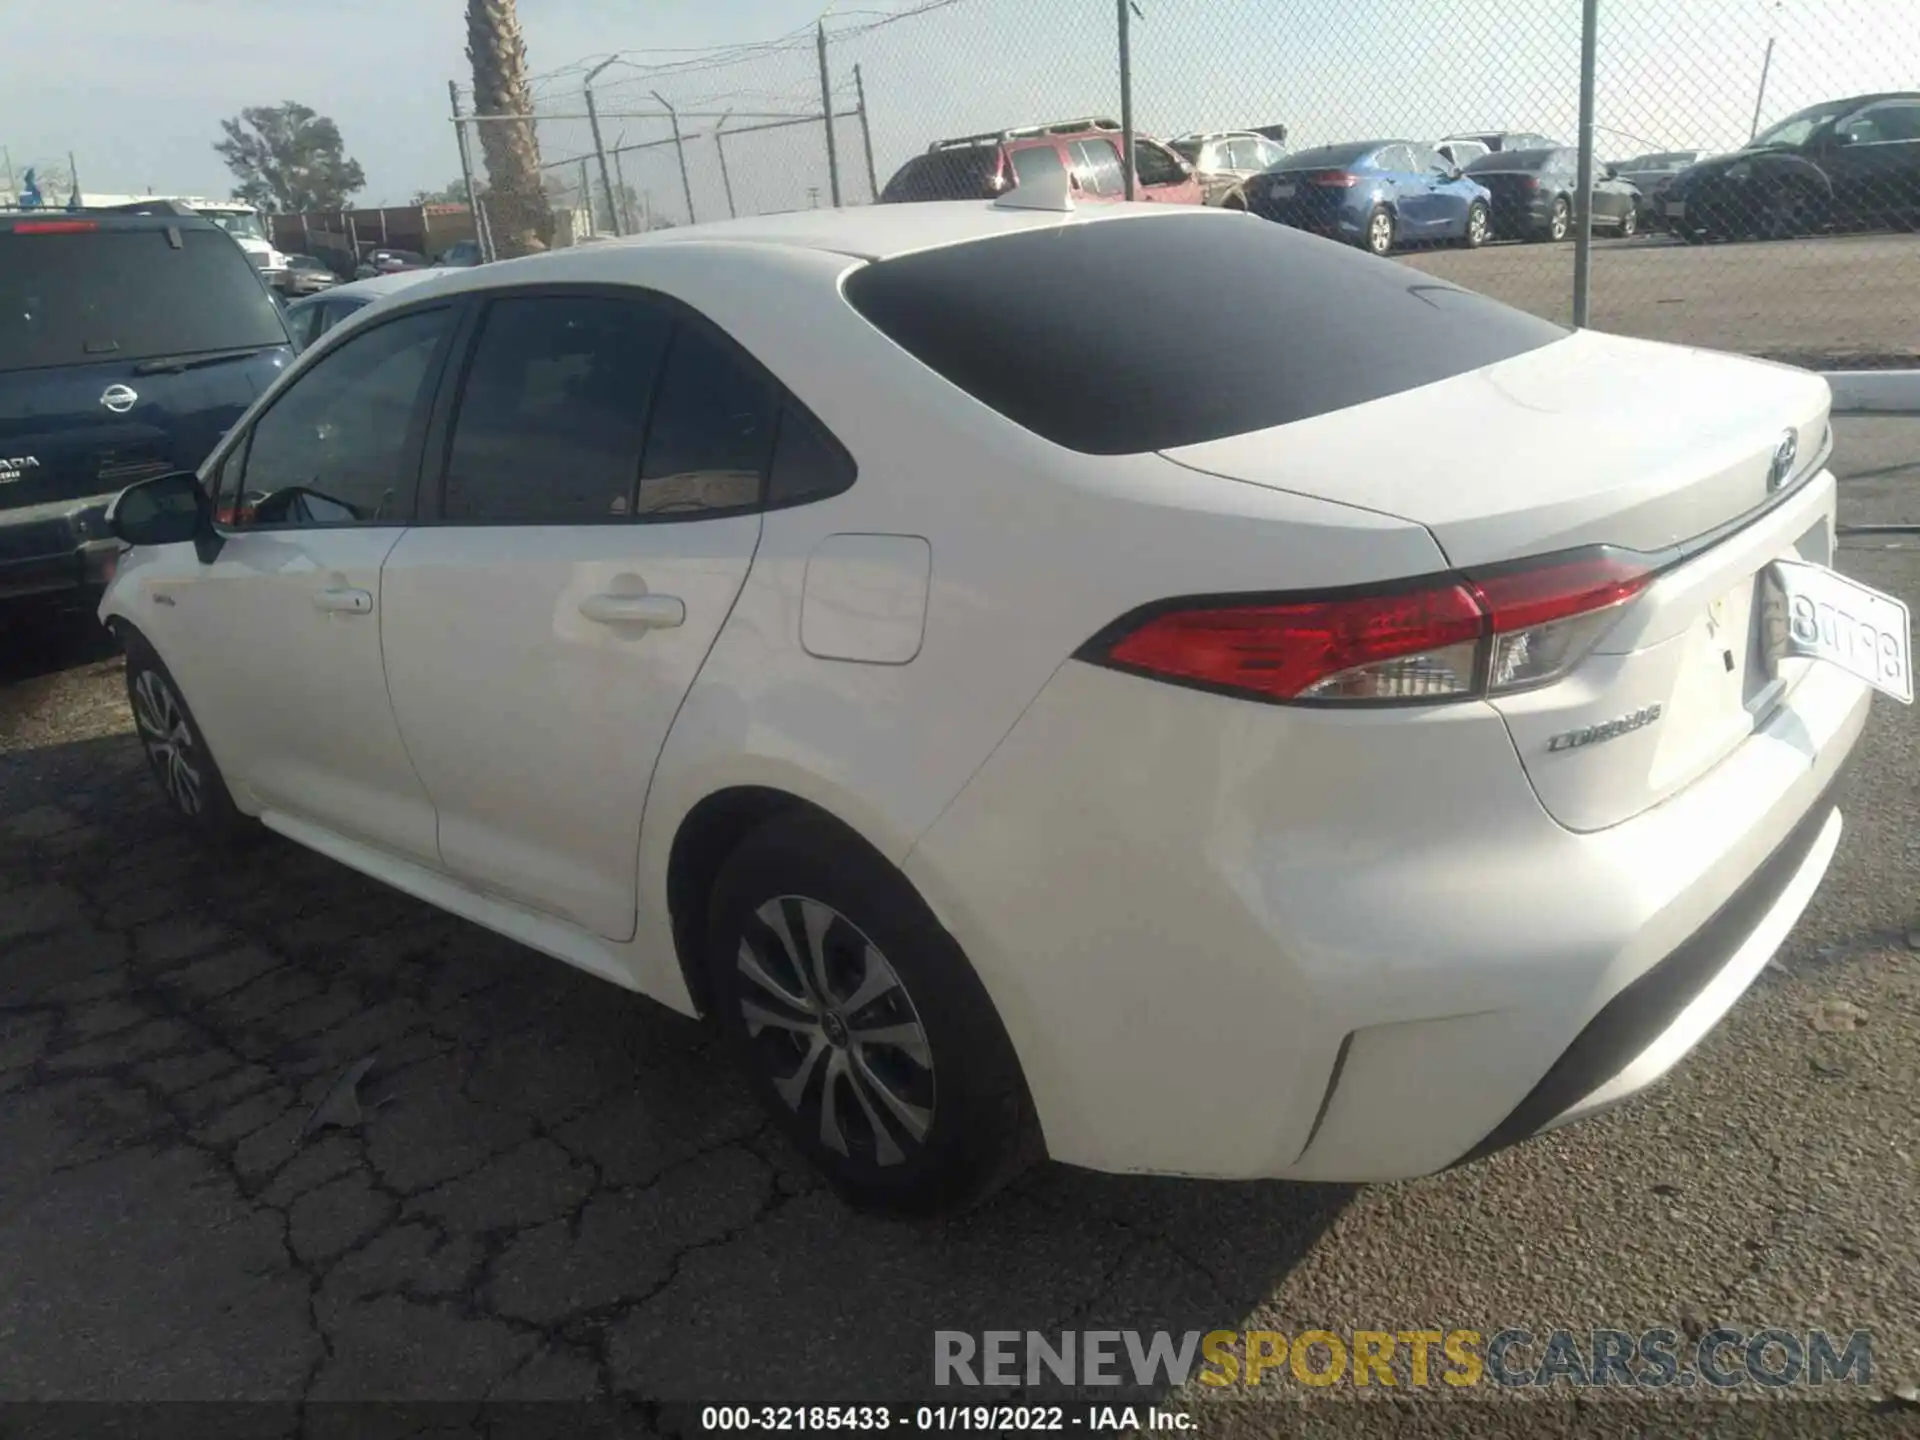
POLYGON ((747 219, 361 311, 102 616, 188 824, 714 1016, 856 1202, 1405 1177, 1820 883, 1910 695, 1828 405, 1236 213, 747 219))

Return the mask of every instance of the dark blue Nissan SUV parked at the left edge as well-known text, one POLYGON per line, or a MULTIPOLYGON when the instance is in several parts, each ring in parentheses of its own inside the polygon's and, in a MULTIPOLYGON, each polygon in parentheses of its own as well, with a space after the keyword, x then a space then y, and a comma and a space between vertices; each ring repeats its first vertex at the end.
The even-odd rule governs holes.
POLYGON ((0 603, 104 584, 108 501, 198 468, 292 363, 234 238, 154 209, 0 213, 0 603))

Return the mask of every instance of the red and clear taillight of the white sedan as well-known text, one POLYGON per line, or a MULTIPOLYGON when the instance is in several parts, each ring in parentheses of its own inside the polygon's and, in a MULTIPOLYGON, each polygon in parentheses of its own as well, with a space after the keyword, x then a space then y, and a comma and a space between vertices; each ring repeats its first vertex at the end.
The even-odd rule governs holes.
POLYGON ((1267 701, 1467 699, 1557 680, 1653 576, 1594 549, 1379 593, 1160 605, 1081 659, 1267 701))

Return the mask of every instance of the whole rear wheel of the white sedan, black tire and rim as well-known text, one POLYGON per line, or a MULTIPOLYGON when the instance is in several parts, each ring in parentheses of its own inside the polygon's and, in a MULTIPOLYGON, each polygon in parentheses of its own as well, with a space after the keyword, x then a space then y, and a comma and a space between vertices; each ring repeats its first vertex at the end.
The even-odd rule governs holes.
POLYGON ((1000 1018, 906 877, 831 820, 770 820, 707 925, 714 1010, 760 1104, 858 1210, 929 1215, 1037 1158, 1000 1018))

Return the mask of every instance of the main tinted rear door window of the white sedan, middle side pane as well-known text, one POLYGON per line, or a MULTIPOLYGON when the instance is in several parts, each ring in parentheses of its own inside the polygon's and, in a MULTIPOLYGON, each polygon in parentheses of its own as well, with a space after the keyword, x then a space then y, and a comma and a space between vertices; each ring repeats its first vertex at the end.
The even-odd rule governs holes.
POLYGON ((447 447, 445 520, 624 520, 670 332, 670 317, 645 301, 490 305, 447 447))

